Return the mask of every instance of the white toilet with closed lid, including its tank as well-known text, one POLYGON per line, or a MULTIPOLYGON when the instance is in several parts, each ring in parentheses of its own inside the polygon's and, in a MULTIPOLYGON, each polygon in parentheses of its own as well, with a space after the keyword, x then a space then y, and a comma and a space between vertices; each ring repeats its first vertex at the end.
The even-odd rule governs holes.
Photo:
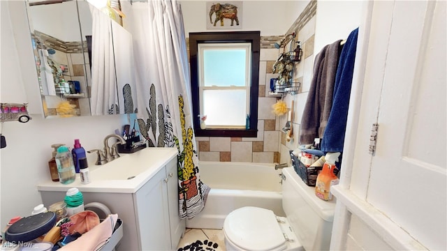
POLYGON ((227 250, 329 250, 335 200, 316 197, 293 167, 281 177, 286 217, 254 206, 235 209, 223 222, 227 250))

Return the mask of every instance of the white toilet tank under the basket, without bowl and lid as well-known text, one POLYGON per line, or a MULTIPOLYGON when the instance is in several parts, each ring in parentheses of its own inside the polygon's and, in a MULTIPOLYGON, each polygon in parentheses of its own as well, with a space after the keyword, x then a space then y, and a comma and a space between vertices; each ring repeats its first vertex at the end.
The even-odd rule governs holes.
POLYGON ((323 201, 293 167, 282 169, 282 206, 305 250, 329 250, 335 199, 323 201))

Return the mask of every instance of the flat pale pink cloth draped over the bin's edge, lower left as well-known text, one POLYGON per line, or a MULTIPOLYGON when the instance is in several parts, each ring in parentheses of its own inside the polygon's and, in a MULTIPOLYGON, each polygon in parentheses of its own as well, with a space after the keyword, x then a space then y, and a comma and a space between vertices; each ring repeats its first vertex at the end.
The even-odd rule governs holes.
POLYGON ((99 250, 113 234, 113 229, 117 224, 118 215, 111 214, 99 225, 82 234, 76 241, 72 241, 59 250, 99 250))

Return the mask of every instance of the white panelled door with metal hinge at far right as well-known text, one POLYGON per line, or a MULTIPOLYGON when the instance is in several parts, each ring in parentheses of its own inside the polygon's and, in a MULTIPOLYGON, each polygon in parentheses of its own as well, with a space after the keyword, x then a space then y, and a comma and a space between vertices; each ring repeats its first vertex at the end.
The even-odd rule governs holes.
POLYGON ((356 236, 353 229, 372 229, 394 249, 417 243, 447 250, 446 1, 374 1, 371 6, 356 150, 352 173, 346 175, 351 181, 348 189, 335 191, 339 211, 349 212, 339 213, 349 218, 340 225, 347 242, 351 238, 365 250, 360 243, 370 236, 356 236), (372 123, 379 125, 373 155, 368 153, 372 123), (381 232, 387 225, 408 239, 381 232))

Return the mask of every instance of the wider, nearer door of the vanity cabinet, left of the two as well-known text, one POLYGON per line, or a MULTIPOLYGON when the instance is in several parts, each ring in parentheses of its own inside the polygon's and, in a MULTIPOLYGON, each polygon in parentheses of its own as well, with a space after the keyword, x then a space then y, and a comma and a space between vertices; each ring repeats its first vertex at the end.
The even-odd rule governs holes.
POLYGON ((160 169, 134 196, 140 250, 170 250, 166 167, 160 169))

